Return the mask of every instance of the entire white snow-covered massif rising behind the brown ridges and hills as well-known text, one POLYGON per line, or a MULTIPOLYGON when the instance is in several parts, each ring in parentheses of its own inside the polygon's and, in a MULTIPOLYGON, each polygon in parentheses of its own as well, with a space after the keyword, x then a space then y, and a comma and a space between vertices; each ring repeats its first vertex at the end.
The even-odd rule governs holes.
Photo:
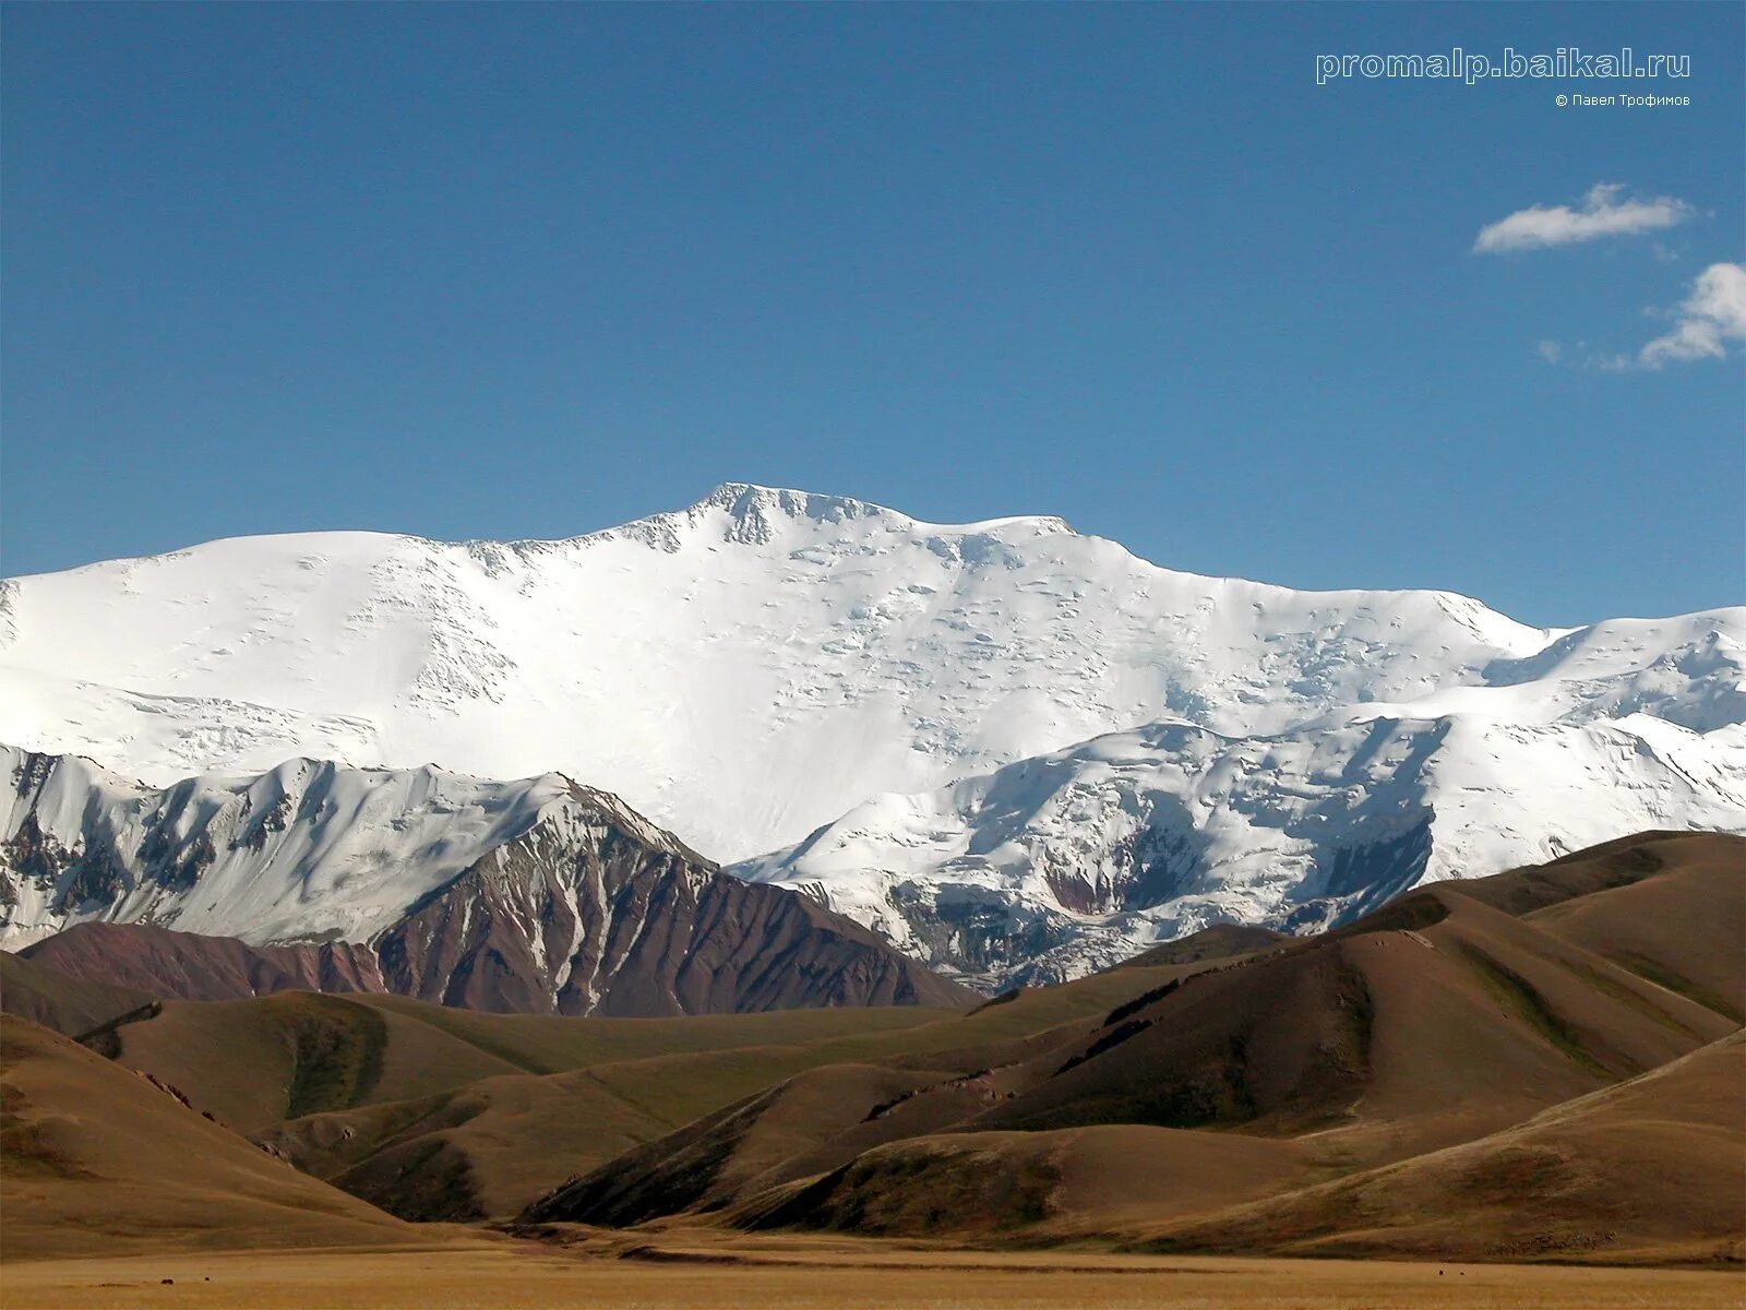
POLYGON ((1743 639, 1746 610, 1542 631, 733 484, 567 541, 244 538, 12 580, 0 739, 161 784, 557 769, 995 982, 1746 826, 1743 639))

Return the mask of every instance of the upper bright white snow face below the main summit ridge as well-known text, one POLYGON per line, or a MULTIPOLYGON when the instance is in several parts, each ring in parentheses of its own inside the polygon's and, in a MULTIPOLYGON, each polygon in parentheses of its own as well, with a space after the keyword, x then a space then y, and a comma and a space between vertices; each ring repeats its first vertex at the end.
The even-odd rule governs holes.
POLYGON ((1058 519, 725 486, 569 541, 320 533, 12 580, 0 739, 161 784, 288 755, 557 769, 732 859, 1161 716, 1275 734, 1550 678, 1545 713, 1580 718, 1594 653, 1542 672, 1554 636, 1440 592, 1172 573, 1058 519))

